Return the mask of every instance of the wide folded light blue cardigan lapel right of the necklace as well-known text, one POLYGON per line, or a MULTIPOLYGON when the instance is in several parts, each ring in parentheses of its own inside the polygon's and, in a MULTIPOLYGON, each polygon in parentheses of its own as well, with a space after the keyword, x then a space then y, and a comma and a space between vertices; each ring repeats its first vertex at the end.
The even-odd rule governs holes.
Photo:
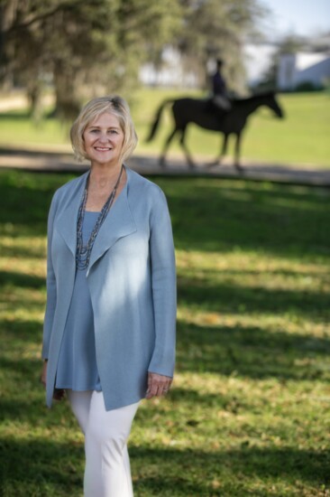
POLYGON ((96 263, 96 260, 101 258, 106 250, 115 245, 115 242, 118 239, 126 237, 137 230, 133 214, 128 203, 130 171, 127 167, 125 167, 125 170, 127 174, 126 184, 122 192, 119 194, 119 197, 115 200, 115 203, 111 207, 110 211, 107 213, 107 216, 97 233, 89 260, 87 275, 90 268, 96 263))

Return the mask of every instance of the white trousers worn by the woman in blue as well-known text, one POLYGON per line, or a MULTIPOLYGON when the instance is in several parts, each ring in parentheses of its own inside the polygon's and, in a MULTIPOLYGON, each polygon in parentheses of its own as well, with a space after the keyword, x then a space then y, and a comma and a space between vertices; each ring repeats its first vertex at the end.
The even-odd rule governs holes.
POLYGON ((85 497, 133 497, 127 439, 140 402, 105 410, 103 392, 67 390, 85 435, 85 497))

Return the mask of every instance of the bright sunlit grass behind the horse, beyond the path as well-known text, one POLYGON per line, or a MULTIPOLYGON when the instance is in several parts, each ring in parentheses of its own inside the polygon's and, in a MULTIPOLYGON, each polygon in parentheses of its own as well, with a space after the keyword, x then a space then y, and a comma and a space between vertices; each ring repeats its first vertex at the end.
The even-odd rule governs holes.
MULTIPOLYGON (((165 98, 198 95, 191 90, 141 89, 133 99, 133 118, 140 143, 138 154, 159 155, 172 127, 170 109, 163 116, 159 136, 145 143, 156 109, 165 98)), ((280 95, 285 119, 273 117, 268 108, 253 114, 243 136, 242 153, 247 160, 270 163, 330 166, 330 95, 323 93, 280 95)), ((55 119, 45 119, 34 127, 26 112, 0 113, 0 145, 68 145, 68 129, 55 119)), ((222 138, 195 125, 188 128, 188 147, 198 159, 218 154, 222 138)), ((232 159, 234 144, 230 143, 232 159)), ((178 141, 170 146, 170 156, 182 157, 178 141)))

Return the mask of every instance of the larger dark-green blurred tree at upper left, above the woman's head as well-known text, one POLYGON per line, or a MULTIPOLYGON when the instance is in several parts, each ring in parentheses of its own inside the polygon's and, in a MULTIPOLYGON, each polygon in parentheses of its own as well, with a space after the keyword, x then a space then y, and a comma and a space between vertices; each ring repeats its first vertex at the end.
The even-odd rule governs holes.
POLYGON ((91 94, 133 87, 178 13, 176 0, 3 0, 0 76, 23 84, 34 114, 52 80, 57 112, 71 118, 91 94))

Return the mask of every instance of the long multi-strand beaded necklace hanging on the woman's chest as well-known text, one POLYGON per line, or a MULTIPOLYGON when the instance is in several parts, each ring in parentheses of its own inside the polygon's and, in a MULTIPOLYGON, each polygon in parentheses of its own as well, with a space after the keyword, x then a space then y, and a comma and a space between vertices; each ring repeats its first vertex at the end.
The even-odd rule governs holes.
POLYGON ((90 254, 92 252, 92 248, 96 239, 96 235, 100 230, 103 221, 105 220, 106 214, 110 211, 112 204, 115 200, 115 193, 117 192, 118 185, 120 183, 122 174, 124 171, 124 165, 122 165, 117 181, 115 182, 114 190, 110 193, 105 205, 102 207, 102 211, 99 213, 99 216, 96 220, 96 224, 94 226, 93 231, 90 234, 89 239, 87 240, 87 244, 84 245, 82 230, 83 223, 85 217, 86 203, 87 203, 87 194, 88 194, 88 183, 89 183, 89 174, 87 176, 86 186, 84 190, 84 194, 82 196, 79 210, 78 210, 78 221, 77 221, 77 250, 76 250, 76 267, 78 270, 82 271, 86 269, 89 264, 90 254))

